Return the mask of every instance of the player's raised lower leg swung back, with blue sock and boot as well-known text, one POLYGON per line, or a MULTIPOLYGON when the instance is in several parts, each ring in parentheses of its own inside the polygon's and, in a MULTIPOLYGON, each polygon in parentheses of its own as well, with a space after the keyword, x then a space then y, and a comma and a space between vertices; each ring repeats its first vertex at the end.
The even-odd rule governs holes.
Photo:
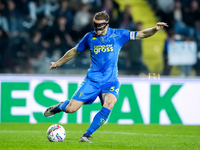
POLYGON ((44 116, 49 117, 61 111, 66 113, 73 113, 77 111, 82 105, 83 102, 77 101, 75 99, 71 99, 70 101, 66 100, 64 102, 60 102, 56 105, 48 107, 44 112, 44 116))

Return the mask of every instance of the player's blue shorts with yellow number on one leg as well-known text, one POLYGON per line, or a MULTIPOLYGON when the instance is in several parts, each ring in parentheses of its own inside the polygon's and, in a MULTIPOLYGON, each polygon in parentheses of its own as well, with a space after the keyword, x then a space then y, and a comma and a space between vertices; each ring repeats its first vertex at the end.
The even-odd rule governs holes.
POLYGON ((91 81, 86 77, 74 93, 72 99, 84 102, 84 104, 92 104, 97 96, 99 96, 101 104, 103 105, 102 93, 112 93, 118 98, 119 81, 99 84, 99 82, 91 81))

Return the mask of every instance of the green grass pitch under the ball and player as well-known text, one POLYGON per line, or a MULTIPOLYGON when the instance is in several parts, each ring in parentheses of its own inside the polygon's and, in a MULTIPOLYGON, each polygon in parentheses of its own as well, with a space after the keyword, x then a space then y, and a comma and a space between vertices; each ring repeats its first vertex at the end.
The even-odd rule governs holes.
POLYGON ((63 142, 49 142, 46 130, 53 123, 0 123, 0 150, 200 150, 200 126, 105 124, 93 143, 78 140, 89 124, 62 124, 63 142))

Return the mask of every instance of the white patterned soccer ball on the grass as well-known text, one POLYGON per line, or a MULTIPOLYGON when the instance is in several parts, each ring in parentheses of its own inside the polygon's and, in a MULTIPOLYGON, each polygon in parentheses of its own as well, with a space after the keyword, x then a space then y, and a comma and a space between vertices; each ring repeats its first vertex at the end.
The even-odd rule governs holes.
POLYGON ((47 138, 50 142, 62 142, 65 136, 65 129, 61 125, 53 124, 47 130, 47 138))

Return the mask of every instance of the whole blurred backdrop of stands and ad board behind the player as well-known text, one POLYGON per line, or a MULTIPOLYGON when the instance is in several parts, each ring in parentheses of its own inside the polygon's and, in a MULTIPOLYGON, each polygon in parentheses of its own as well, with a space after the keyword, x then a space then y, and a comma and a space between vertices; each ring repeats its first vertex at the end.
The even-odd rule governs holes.
POLYGON ((200 125, 200 0, 1 0, 0 122, 89 123, 99 101, 74 114, 44 118, 46 107, 70 99, 90 66, 90 52, 55 70, 66 51, 93 30, 95 12, 110 27, 156 35, 124 45, 120 97, 107 123, 200 125))

